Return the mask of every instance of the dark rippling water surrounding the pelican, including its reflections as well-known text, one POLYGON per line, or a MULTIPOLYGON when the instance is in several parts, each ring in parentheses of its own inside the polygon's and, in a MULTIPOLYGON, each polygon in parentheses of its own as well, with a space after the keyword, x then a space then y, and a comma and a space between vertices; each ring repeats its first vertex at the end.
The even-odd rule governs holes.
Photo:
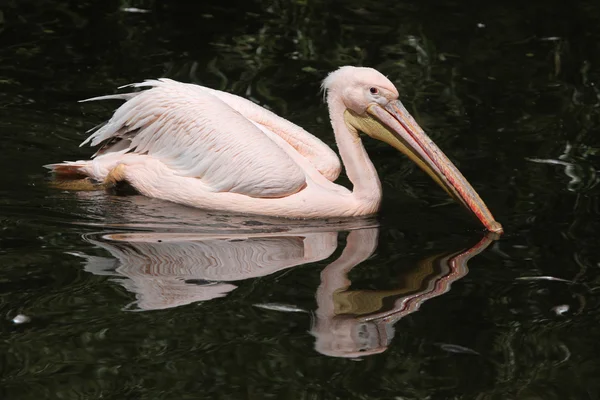
POLYGON ((600 398, 599 4, 1 3, 0 397, 600 398), (333 145, 318 91, 344 64, 396 83, 501 240, 373 142, 377 220, 65 192, 41 168, 91 154, 113 105, 77 100, 161 76, 333 145))

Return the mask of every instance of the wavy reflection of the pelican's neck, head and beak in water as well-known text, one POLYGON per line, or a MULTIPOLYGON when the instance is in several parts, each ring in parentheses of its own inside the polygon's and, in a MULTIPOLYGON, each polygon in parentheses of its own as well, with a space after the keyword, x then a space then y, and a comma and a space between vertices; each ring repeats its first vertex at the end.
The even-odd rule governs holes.
POLYGON ((352 358, 384 352, 394 337, 394 324, 450 290, 452 282, 468 273, 467 262, 494 240, 484 236, 471 248, 424 259, 404 271, 396 289, 349 290, 348 273, 373 254, 377 236, 378 229, 350 232, 342 255, 321 272, 311 331, 321 354, 352 358))

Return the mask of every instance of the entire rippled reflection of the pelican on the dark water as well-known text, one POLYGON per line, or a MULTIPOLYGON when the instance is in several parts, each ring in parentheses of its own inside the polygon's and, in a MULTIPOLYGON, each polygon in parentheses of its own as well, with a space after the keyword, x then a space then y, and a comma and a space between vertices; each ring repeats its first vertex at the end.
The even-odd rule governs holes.
POLYGON ((484 236, 467 249, 402 268, 400 283, 392 289, 353 290, 348 273, 375 252, 379 235, 373 221, 353 224, 330 221, 270 230, 246 224, 237 233, 228 227, 223 233, 167 229, 89 235, 91 243, 112 257, 86 256, 85 269, 118 277, 142 310, 166 309, 226 296, 237 281, 325 260, 336 250, 339 233, 348 231, 341 255, 321 272, 311 334, 322 354, 359 357, 385 351, 394 324, 446 293, 467 274, 467 262, 493 241, 484 236))

